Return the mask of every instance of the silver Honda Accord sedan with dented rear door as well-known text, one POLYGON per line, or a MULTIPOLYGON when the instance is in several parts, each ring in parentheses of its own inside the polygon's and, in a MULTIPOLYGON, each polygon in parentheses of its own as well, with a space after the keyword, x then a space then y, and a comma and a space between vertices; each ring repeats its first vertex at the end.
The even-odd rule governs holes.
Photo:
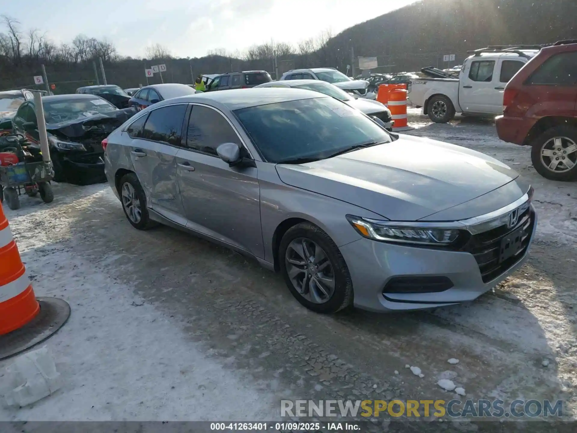
POLYGON ((474 300, 523 264, 537 225, 533 188, 498 160, 308 90, 164 100, 103 147, 132 226, 254 257, 316 312, 474 300))

